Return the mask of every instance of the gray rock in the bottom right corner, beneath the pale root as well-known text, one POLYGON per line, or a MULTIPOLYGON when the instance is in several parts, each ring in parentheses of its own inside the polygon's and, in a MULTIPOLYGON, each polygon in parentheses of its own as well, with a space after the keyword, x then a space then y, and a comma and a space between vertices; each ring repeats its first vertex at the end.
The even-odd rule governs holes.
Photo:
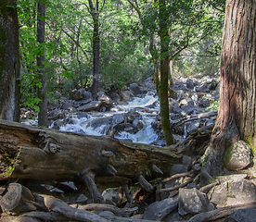
POLYGON ((255 222, 256 209, 239 209, 227 216, 224 222, 255 222))

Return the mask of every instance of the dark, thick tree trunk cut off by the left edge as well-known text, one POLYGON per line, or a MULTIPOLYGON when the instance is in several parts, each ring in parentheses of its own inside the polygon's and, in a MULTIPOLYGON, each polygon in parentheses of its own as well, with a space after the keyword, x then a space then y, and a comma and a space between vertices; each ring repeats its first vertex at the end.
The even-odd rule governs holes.
POLYGON ((0 6, 0 118, 19 122, 19 23, 17 4, 0 6))

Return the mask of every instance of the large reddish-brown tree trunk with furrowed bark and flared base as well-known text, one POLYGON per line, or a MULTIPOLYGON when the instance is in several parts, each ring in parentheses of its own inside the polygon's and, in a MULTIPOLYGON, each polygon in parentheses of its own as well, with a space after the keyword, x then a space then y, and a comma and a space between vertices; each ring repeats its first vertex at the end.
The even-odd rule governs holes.
POLYGON ((256 2, 226 2, 221 60, 220 108, 205 170, 223 168, 225 148, 238 139, 255 151, 256 132, 256 2))

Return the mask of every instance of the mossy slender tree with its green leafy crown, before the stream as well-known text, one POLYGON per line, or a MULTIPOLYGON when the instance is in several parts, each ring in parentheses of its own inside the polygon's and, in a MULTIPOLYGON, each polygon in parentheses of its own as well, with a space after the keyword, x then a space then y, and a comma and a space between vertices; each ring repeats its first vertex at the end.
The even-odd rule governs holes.
MULTIPOLYGON (((139 17, 137 27, 149 42, 154 62, 154 80, 160 95, 160 114, 167 145, 173 143, 170 129, 168 82, 171 80, 169 63, 189 46, 199 43, 219 30, 222 22, 208 13, 204 1, 147 1, 128 0, 139 17)), ((144 40, 145 41, 145 40, 144 40)), ((172 84, 172 81, 171 81, 172 84)))

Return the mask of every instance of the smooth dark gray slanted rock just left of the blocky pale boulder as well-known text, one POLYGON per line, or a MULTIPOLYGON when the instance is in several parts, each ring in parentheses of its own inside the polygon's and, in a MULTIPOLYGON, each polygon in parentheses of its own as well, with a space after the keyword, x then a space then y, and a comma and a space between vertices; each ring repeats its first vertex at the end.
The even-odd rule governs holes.
POLYGON ((144 215, 143 219, 150 219, 154 221, 161 221, 165 216, 177 209, 178 201, 173 198, 167 198, 160 202, 150 204, 144 215))

